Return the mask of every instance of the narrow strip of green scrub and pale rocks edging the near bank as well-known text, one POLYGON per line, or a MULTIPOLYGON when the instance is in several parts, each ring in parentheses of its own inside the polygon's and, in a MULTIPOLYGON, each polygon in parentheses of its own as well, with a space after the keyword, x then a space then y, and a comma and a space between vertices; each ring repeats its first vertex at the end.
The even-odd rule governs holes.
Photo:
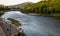
POLYGON ((18 30, 18 33, 16 33, 15 36, 26 36, 23 29, 21 28, 21 23, 19 23, 19 21, 12 18, 8 18, 8 20, 12 21, 12 25, 14 25, 18 30))

